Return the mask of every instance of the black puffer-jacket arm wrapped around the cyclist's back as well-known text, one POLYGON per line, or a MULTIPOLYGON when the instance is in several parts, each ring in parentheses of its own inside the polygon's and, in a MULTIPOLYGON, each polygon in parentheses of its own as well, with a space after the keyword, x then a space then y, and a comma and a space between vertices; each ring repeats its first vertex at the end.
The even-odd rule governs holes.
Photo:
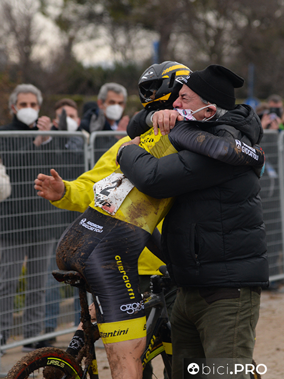
POLYGON ((158 159, 135 144, 125 147, 119 164, 139 191, 155 198, 209 188, 232 179, 236 169, 249 169, 186 150, 158 159))

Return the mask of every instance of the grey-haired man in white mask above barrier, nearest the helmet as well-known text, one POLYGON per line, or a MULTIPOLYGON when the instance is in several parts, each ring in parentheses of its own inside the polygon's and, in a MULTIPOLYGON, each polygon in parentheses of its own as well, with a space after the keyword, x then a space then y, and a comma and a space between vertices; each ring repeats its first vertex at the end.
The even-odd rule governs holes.
POLYGON ((88 133, 98 130, 126 130, 129 116, 123 117, 127 102, 127 90, 118 83, 105 83, 94 105, 83 114, 81 128, 88 133))

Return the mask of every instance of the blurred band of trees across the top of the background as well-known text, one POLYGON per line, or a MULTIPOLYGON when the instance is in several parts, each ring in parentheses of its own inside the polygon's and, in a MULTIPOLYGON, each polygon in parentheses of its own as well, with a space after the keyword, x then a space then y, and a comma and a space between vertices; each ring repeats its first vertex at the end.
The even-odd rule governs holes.
MULTIPOLYGON (((217 63, 244 77, 254 63, 255 95, 284 96, 284 0, 2 0, 0 9, 0 72, 9 67, 12 80, 31 82, 44 94, 96 94, 106 81, 135 93, 139 73, 151 63, 146 47, 158 40, 160 62, 192 69, 217 63), (54 35, 42 61, 35 53, 44 34, 39 10, 54 35), (113 66, 84 67, 79 44, 103 35, 113 66)), ((96 52, 95 44, 88 46, 96 52)))

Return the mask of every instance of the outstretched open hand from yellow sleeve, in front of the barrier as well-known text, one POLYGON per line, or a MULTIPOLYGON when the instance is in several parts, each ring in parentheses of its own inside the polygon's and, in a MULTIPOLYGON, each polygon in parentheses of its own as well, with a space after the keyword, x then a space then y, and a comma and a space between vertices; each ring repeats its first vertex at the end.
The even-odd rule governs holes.
POLYGON ((65 185, 58 172, 53 168, 50 170, 51 176, 38 174, 35 180, 35 189, 38 195, 47 200, 56 201, 60 200, 65 192, 65 185))

